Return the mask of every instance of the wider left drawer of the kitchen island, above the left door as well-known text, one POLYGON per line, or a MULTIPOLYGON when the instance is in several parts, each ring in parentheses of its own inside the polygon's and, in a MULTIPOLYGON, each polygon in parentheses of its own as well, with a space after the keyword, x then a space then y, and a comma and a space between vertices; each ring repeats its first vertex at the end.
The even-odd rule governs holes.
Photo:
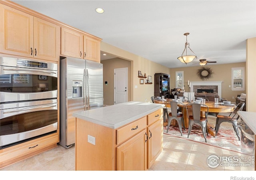
POLYGON ((120 144, 124 140, 137 134, 147 126, 147 117, 140 118, 118 130, 116 130, 116 144, 120 144))

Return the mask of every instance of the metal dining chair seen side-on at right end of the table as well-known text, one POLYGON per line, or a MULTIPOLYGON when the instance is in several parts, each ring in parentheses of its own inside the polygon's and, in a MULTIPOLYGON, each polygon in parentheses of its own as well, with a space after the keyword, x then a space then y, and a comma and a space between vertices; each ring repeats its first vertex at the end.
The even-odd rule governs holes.
POLYGON ((222 122, 229 122, 233 125, 233 128, 236 132, 236 136, 238 137, 238 140, 240 140, 240 135, 238 132, 238 125, 237 125, 237 120, 239 119, 240 116, 237 114, 237 112, 243 109, 244 104, 245 104, 244 102, 240 102, 237 105, 234 105, 234 106, 236 106, 234 111, 231 112, 228 116, 223 116, 220 114, 217 115, 216 125, 215 125, 216 136, 219 131, 220 124, 222 122))

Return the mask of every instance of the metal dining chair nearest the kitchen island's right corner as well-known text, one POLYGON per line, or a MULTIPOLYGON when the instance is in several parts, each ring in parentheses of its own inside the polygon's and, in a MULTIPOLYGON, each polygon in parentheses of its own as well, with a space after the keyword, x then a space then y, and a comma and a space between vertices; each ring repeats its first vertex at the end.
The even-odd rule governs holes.
POLYGON ((166 133, 168 133, 168 130, 171 125, 171 121, 176 120, 178 122, 178 126, 180 128, 180 134, 182 136, 182 126, 185 130, 185 122, 184 122, 184 118, 183 118, 184 117, 184 104, 182 102, 168 101, 165 103, 165 107, 167 110, 167 114, 169 115, 166 133), (168 104, 170 105, 170 108, 169 108, 168 104), (182 108, 182 113, 178 113, 178 104, 181 105, 179 107, 182 108), (171 112, 170 112, 170 109, 171 109, 171 112), (169 112, 168 112, 168 110, 169 110, 169 112))

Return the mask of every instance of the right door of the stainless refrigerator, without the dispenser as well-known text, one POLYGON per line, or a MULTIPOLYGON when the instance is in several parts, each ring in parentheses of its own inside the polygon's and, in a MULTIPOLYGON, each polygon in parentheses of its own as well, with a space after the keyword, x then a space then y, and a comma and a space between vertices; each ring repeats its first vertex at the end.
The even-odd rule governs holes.
POLYGON ((103 107, 103 64, 86 60, 86 110, 103 107))

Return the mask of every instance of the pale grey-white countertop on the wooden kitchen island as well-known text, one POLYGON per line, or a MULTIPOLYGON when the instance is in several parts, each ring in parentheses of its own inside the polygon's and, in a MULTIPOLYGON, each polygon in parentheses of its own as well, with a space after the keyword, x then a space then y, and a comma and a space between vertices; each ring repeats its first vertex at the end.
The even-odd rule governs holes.
POLYGON ((76 112, 74 117, 116 129, 162 108, 164 104, 130 101, 76 112))

